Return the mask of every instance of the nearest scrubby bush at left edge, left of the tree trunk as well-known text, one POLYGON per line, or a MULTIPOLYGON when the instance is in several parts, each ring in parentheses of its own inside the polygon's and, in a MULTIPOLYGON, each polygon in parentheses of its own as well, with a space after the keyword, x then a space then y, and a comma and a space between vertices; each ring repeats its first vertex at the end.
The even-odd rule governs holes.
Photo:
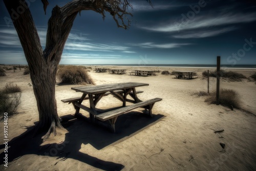
POLYGON ((1 119, 4 118, 4 113, 8 113, 8 117, 17 114, 17 108, 20 104, 20 93, 8 94, 5 90, 0 90, 0 114, 1 119))

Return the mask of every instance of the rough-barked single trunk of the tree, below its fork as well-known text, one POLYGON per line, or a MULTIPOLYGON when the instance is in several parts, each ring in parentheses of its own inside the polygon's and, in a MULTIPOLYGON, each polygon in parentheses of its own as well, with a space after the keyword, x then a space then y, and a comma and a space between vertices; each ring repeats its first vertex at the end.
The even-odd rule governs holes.
POLYGON ((30 72, 39 113, 39 123, 35 133, 48 131, 44 139, 47 139, 52 132, 56 135, 56 126, 62 127, 55 99, 56 72, 57 66, 52 63, 48 65, 45 61, 42 61, 38 72, 30 72))

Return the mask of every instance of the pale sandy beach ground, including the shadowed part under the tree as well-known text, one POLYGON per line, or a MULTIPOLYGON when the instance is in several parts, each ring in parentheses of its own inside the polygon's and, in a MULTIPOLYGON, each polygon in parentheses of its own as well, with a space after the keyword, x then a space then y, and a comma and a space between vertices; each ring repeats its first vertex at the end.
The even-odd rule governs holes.
MULTIPOLYGON (((93 67, 94 68, 94 67, 93 67)), ((109 67, 121 68, 121 67, 109 67)), ((139 67, 123 67, 139 69, 139 67)), ((142 67, 141 67, 142 69, 142 67)), ((145 69, 145 68, 143 68, 145 69)), ((29 75, 23 70, 7 71, 0 77, 0 87, 13 82, 22 88, 19 114, 8 120, 8 167, 4 166, 4 122, 0 122, 0 170, 256 170, 256 84, 244 79, 230 82, 221 79, 221 88, 236 90, 243 109, 231 111, 222 105, 207 104, 205 97, 193 95, 207 91, 207 80, 201 76, 206 69, 147 68, 149 70, 193 70, 196 79, 176 79, 162 75, 139 77, 89 72, 96 84, 143 82, 150 84, 137 90, 141 100, 155 97, 163 100, 153 108, 154 117, 142 109, 118 117, 117 133, 73 117, 72 104, 60 100, 81 96, 71 90, 74 85, 56 85, 58 114, 64 130, 57 130, 45 142, 41 136, 20 136, 31 130, 38 121, 36 101, 29 75), (251 114, 252 113, 252 114, 251 114), (214 130, 224 132, 214 133, 214 130), (220 142, 225 143, 223 149, 220 142)), ((210 69, 214 70, 214 69, 210 69)), ((129 72, 129 71, 128 71, 129 72)), ((255 70, 240 69, 250 76, 255 70)), ((210 91, 216 89, 216 79, 210 78, 210 91)), ((87 105, 88 102, 84 102, 87 105)), ((122 103, 111 95, 103 97, 97 108, 111 108, 122 103)), ((83 115, 88 113, 81 111, 83 115)))

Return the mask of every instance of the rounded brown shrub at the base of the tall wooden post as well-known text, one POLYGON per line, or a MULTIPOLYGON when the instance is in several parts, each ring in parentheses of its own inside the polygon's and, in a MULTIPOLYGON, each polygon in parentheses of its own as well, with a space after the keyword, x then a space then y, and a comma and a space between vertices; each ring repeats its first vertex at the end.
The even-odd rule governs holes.
MULTIPOLYGON (((210 93, 210 96, 205 99, 205 102, 208 102, 209 104, 216 104, 216 92, 210 93)), ((233 108, 241 109, 240 96, 233 90, 221 89, 219 102, 220 104, 229 107, 231 110, 233 110, 233 108)))

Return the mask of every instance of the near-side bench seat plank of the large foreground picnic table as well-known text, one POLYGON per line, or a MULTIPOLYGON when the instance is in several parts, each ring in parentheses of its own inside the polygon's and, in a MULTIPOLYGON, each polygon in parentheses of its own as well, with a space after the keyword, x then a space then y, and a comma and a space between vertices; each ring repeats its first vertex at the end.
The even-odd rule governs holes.
POLYGON ((161 100, 162 100, 161 98, 154 98, 154 99, 142 101, 142 102, 139 102, 139 103, 135 103, 135 104, 132 104, 132 105, 125 106, 125 107, 120 108, 120 109, 116 109, 116 110, 113 110, 113 111, 109 111, 109 112, 99 114, 99 115, 95 116, 95 118, 97 118, 101 121, 109 120, 111 118, 122 115, 126 112, 132 111, 132 110, 137 109, 137 108, 141 108, 143 106, 146 106, 146 105, 149 105, 149 104, 155 103, 157 101, 161 101, 161 100))

